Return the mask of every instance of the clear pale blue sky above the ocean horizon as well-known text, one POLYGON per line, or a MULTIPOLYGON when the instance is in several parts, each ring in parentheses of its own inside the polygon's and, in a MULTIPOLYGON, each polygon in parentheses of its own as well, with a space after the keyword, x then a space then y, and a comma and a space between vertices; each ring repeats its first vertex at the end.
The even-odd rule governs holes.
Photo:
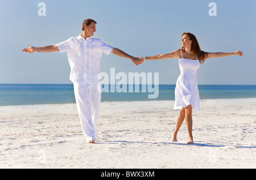
MULTIPOLYGON (((70 84, 67 53, 24 53, 27 44, 54 45, 78 36, 84 19, 97 21, 94 37, 136 56, 172 52, 181 34, 191 32, 205 52, 236 52, 243 57, 212 58, 197 73, 199 84, 256 84, 256 1, 203 0, 0 0, 0 83, 70 84), (39 16, 39 2, 46 16, 39 16), (217 16, 209 16, 210 2, 217 16)), ((160 84, 175 84, 178 59, 145 62, 103 54, 101 72, 159 72, 160 84)))

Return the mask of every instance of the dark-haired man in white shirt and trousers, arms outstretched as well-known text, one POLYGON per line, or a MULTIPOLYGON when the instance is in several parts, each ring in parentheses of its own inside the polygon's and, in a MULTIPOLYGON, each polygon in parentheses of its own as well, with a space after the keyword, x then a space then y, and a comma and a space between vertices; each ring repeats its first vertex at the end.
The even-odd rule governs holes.
POLYGON ((80 117, 82 132, 88 143, 95 143, 96 123, 101 102, 101 91, 97 86, 100 79, 97 78, 100 69, 101 53, 114 54, 119 57, 129 58, 138 66, 139 58, 126 54, 122 50, 106 45, 99 38, 92 38, 96 32, 96 21, 86 19, 82 23, 82 33, 77 37, 71 37, 67 41, 57 45, 35 48, 28 45, 23 52, 56 52, 68 53, 68 61, 71 66, 69 79, 74 84, 77 110, 80 117))

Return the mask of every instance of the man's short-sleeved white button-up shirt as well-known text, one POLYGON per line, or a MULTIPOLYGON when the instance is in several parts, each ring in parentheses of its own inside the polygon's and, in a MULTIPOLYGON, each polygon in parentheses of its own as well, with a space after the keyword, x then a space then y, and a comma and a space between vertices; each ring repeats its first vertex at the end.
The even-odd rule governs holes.
POLYGON ((71 37, 56 44, 60 53, 67 52, 71 73, 69 79, 77 83, 99 82, 101 54, 110 54, 113 47, 105 44, 99 38, 86 38, 81 35, 71 37))

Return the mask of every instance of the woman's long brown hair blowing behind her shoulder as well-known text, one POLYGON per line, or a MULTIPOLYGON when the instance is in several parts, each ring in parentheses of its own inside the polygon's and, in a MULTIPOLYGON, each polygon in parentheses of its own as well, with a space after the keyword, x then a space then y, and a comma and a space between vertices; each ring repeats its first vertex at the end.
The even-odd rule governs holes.
MULTIPOLYGON (((206 53, 206 52, 203 52, 203 51, 200 49, 199 43, 197 42, 197 39, 196 39, 196 36, 193 35, 192 33, 184 32, 184 33, 182 33, 181 38, 182 38, 184 35, 188 35, 188 37, 189 37, 190 40, 192 41, 192 44, 191 44, 191 54, 197 55, 197 59, 199 60, 199 62, 200 62, 201 64, 203 64, 204 61, 205 61, 205 57, 207 57, 207 53, 206 53)), ((182 49, 182 50, 185 50, 184 47, 182 47, 181 49, 182 49)))

